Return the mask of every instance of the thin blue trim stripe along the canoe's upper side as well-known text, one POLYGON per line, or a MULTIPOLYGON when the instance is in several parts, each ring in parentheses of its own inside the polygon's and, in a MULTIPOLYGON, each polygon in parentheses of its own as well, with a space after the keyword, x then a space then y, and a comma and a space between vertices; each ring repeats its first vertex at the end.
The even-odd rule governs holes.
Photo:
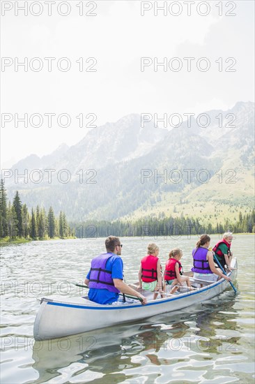
MULTIPOLYGON (((111 306, 110 304, 107 306, 107 307, 92 307, 92 306, 84 306, 84 305, 77 305, 77 304, 64 304, 64 303, 60 303, 60 302, 47 302, 47 305, 55 305, 56 307, 68 307, 68 308, 79 308, 79 309, 94 309, 95 311, 109 311, 109 310, 116 310, 116 309, 130 309, 130 308, 137 308, 138 304, 139 304, 139 307, 148 307, 150 305, 157 305, 157 304, 163 304, 163 303, 166 303, 166 302, 172 302, 174 300, 180 300, 180 299, 184 299, 185 297, 190 297, 190 296, 193 296, 193 295, 198 295, 199 293, 203 293, 203 292, 206 292, 206 290, 211 290, 219 285, 221 285, 222 283, 224 283, 224 281, 219 281, 217 284, 215 284, 214 286, 210 286, 208 288, 202 288, 202 290, 196 290, 195 292, 189 292, 187 293, 187 295, 183 296, 183 295, 180 295, 180 296, 176 296, 176 297, 171 297, 170 299, 168 300, 165 300, 164 302, 157 302, 155 300, 155 302, 150 302, 144 306, 141 306, 140 303, 137 303, 136 305, 124 305, 124 306, 121 306, 121 305, 114 305, 114 306, 111 306)), ((102 305, 106 305, 106 304, 102 304, 102 305)))

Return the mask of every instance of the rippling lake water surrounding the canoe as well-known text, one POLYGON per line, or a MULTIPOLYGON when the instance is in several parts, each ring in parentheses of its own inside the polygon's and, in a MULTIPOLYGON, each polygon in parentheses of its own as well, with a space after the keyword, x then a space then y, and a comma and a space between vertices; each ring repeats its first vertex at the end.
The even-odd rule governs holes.
MULTIPOLYGON (((212 235, 211 245, 219 236, 212 235)), ((123 237, 127 283, 137 281, 148 242, 169 251, 183 249, 185 270, 192 266, 197 237, 123 237)), ((31 242, 1 249, 1 384, 6 383, 254 383, 254 236, 237 235, 238 295, 230 289, 210 302, 118 325, 35 342, 36 298, 73 297, 86 290, 91 258, 105 239, 31 242)))

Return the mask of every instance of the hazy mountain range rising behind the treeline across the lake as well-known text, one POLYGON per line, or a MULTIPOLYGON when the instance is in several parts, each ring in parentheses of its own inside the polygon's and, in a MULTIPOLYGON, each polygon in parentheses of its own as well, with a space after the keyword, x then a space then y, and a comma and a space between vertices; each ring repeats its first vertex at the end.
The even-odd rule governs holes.
MULTIPOLYGON (((58 175, 68 170, 70 180, 55 172, 51 184, 20 185, 22 201, 63 209, 74 221, 169 214, 206 223, 235 219, 254 205, 254 103, 203 117, 171 131, 153 122, 141 128, 139 115, 93 128, 47 165, 58 175)), ((8 186, 11 195, 15 189, 8 186)))

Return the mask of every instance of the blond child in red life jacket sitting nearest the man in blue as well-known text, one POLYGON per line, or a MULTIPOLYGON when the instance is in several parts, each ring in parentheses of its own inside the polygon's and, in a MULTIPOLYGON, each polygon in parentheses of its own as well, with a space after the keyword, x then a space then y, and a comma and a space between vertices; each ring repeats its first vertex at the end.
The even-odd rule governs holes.
POLYGON ((162 275, 160 259, 157 257, 160 253, 159 247, 155 243, 148 244, 148 254, 141 259, 139 269, 139 286, 144 290, 154 292, 153 300, 157 298, 158 293, 163 293, 162 290, 162 275))

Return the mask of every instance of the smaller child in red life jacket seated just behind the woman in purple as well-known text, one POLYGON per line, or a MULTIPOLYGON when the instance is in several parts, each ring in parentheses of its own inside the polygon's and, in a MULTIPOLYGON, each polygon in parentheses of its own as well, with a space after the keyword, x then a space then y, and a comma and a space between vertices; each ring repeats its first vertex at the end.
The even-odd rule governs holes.
POLYGON ((166 291, 167 285, 171 285, 172 289, 170 294, 175 293, 178 290, 178 286, 182 286, 186 282, 187 286, 191 288, 190 278, 188 276, 181 276, 182 265, 180 259, 183 256, 183 251, 179 248, 174 248, 169 253, 169 260, 167 260, 166 267, 164 269, 164 292, 166 291))

